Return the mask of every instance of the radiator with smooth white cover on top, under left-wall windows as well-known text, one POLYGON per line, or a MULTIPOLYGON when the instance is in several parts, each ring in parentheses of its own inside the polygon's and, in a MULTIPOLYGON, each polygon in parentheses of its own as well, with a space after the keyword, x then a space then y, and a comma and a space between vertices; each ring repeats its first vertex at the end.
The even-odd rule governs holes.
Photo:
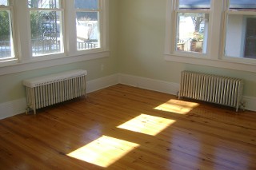
POLYGON ((75 97, 86 96, 86 70, 75 69, 24 80, 27 109, 40 109, 75 97))

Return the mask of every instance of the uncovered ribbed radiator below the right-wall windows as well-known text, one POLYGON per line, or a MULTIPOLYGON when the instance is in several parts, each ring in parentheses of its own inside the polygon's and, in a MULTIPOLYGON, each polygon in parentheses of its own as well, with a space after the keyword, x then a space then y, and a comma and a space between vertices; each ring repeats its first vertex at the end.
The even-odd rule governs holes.
POLYGON ((243 82, 233 77, 182 71, 179 99, 188 97, 238 108, 242 101, 243 82))

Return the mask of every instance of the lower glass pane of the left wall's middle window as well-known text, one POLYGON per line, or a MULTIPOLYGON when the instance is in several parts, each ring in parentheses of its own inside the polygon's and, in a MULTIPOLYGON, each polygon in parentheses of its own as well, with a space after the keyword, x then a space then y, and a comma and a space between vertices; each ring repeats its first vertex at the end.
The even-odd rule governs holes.
POLYGON ((62 52, 62 13, 30 11, 33 56, 62 52))

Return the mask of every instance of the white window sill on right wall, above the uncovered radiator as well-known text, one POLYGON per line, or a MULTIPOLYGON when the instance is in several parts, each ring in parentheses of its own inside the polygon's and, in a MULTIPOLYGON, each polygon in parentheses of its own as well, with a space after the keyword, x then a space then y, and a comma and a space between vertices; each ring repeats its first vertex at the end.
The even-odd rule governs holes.
POLYGON ((206 65, 211 67, 218 67, 223 69, 234 69, 234 70, 241 70, 241 71, 248 71, 256 73, 256 65, 250 63, 238 63, 236 61, 230 61, 228 59, 210 59, 203 58, 203 57, 185 57, 185 56, 177 56, 172 55, 170 53, 164 54, 166 61, 173 61, 173 62, 181 62, 186 64, 192 65, 206 65))

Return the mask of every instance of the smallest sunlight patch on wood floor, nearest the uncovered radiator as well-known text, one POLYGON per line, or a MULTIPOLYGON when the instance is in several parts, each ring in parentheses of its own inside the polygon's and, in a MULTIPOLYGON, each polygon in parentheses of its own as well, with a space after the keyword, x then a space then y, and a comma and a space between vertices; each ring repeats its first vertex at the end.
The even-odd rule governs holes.
POLYGON ((192 109, 197 107, 199 104, 190 102, 190 101, 179 101, 171 99, 166 103, 159 105, 158 107, 154 108, 157 110, 162 110, 170 113, 178 113, 178 114, 186 114, 189 113, 192 109))

